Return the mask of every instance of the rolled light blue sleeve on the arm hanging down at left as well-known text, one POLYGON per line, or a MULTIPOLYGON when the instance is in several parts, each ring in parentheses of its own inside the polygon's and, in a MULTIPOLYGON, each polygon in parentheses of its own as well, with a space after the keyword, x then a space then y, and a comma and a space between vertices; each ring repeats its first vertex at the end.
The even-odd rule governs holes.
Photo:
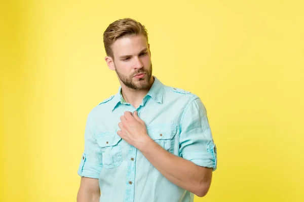
POLYGON ((95 138, 95 131, 95 123, 91 112, 87 118, 85 149, 81 157, 78 175, 98 179, 102 169, 102 154, 95 138))

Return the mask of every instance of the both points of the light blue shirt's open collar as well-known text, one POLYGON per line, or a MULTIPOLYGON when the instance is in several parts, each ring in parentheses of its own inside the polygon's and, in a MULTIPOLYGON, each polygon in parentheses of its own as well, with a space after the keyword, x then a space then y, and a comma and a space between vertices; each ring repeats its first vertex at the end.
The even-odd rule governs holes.
MULTIPOLYGON (((151 86, 150 90, 148 91, 147 95, 143 98, 143 100, 145 100, 145 98, 147 96, 153 98, 156 102, 158 103, 163 103, 163 95, 164 95, 164 85, 161 83, 161 81, 156 77, 154 77, 154 83, 151 86)), ((119 105, 119 104, 124 104, 125 100, 122 96, 122 87, 120 86, 118 89, 117 94, 115 94, 115 96, 112 99, 113 105, 111 107, 112 111, 119 105)))

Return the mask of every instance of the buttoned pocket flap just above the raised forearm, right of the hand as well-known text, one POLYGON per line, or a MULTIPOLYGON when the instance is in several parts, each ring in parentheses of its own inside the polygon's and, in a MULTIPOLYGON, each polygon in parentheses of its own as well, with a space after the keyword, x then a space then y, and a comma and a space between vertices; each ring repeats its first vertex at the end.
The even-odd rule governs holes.
POLYGON ((153 140, 168 140, 175 136, 176 126, 152 126, 147 128, 147 132, 153 140))

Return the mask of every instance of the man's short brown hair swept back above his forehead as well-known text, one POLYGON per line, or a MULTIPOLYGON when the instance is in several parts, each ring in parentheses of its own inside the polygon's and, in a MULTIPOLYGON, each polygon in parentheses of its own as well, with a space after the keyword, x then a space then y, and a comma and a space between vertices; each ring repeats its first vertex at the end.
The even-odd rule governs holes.
POLYGON ((140 22, 124 18, 112 22, 103 32, 103 44, 107 56, 114 58, 111 45, 119 38, 124 36, 143 34, 148 41, 148 33, 144 25, 140 22))

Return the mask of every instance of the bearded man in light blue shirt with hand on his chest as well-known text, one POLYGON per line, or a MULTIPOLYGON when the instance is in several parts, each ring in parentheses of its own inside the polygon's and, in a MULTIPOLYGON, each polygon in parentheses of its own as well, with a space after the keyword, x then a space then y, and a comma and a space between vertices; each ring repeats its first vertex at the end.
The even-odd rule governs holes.
POLYGON ((206 195, 217 157, 200 98, 152 75, 139 22, 115 21, 103 40, 121 86, 88 115, 77 200, 188 202, 206 195))

